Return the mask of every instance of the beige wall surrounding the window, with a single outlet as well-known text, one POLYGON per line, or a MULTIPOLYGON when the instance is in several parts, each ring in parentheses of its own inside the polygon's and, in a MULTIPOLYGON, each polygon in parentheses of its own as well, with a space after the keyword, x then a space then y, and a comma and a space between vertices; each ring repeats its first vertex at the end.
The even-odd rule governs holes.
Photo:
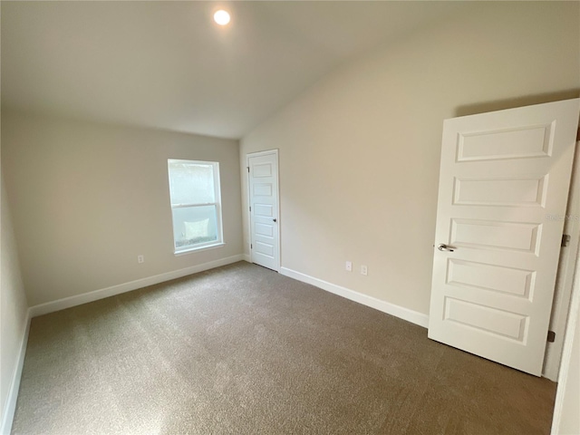
POLYGON ((3 171, 29 304, 241 254, 238 154, 237 140, 3 111, 3 171), (167 159, 219 161, 225 247, 173 254, 167 159))

